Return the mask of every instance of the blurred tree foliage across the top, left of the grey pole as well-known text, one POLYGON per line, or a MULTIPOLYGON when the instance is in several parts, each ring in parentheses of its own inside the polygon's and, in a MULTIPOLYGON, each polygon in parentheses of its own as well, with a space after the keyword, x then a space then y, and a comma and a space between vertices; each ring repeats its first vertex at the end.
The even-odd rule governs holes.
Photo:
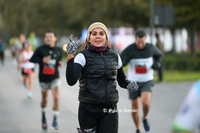
POLYGON ((148 0, 1 0, 0 15, 9 35, 48 29, 61 34, 80 34, 84 27, 101 21, 108 27, 147 26, 148 0))

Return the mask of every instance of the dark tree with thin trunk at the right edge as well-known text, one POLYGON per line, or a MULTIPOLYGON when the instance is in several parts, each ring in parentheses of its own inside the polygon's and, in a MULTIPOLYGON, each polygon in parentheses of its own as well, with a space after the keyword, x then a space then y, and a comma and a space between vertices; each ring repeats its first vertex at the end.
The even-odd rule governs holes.
POLYGON ((176 12, 176 27, 185 27, 191 36, 191 55, 195 57, 194 33, 200 30, 200 1, 172 0, 176 12))

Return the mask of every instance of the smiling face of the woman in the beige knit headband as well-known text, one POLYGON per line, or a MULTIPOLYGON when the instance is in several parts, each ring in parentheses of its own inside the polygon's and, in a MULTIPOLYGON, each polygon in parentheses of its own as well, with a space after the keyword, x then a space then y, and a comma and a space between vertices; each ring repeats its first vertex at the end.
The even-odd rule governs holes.
POLYGON ((96 28, 90 34, 90 43, 96 47, 106 44, 106 33, 101 28, 96 28))

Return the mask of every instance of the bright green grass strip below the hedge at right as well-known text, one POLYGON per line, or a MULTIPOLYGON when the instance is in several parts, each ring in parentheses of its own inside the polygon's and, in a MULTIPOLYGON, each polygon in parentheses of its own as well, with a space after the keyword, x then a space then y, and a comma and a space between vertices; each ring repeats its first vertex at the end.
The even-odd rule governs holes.
MULTIPOLYGON (((124 67, 124 72, 128 70, 128 65, 124 67)), ((200 71, 167 71, 163 72, 163 82, 188 82, 200 79, 200 71)), ((158 73, 154 71, 154 81, 158 81, 158 73)))

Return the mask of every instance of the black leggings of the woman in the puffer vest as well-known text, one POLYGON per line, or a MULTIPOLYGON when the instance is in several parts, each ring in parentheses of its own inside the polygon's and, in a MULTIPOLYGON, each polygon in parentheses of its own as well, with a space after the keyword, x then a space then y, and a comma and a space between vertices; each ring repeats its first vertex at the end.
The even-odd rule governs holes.
POLYGON ((83 129, 96 127, 97 133, 117 133, 118 113, 91 113, 84 107, 79 106, 79 125, 83 129))

